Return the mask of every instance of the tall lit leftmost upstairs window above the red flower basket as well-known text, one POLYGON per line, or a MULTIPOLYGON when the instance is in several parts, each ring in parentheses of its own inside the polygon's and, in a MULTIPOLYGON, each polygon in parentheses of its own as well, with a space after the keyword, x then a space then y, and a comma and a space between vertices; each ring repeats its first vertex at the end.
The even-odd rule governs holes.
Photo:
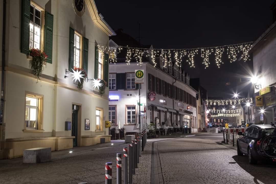
POLYGON ((41 49, 41 23, 42 23, 42 9, 36 4, 30 4, 30 42, 29 47, 34 49, 41 49))

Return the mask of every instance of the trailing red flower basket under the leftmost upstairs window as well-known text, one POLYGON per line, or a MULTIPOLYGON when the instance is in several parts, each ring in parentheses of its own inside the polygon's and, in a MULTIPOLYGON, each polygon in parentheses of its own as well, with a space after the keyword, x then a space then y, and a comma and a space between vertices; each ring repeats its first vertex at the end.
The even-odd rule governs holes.
POLYGON ((40 80, 40 76, 44 70, 44 66, 46 67, 47 55, 39 49, 30 49, 29 55, 33 57, 30 61, 30 69, 37 79, 36 83, 38 83, 38 80, 40 80))

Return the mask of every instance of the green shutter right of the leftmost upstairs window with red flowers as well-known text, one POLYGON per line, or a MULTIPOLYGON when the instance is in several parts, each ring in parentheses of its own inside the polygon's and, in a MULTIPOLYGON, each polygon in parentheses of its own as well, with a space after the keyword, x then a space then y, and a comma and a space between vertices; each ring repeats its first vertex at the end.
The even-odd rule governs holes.
POLYGON ((47 55, 47 63, 52 63, 52 50, 53 50, 53 24, 54 15, 45 11, 45 41, 44 52, 47 55))

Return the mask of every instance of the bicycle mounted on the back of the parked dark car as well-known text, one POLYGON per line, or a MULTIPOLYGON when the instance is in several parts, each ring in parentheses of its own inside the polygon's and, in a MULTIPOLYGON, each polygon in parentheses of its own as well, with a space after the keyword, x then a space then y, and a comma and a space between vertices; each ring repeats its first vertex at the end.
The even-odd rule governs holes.
POLYGON ((268 157, 276 159, 276 124, 271 123, 271 126, 274 127, 271 134, 262 131, 261 148, 268 157))

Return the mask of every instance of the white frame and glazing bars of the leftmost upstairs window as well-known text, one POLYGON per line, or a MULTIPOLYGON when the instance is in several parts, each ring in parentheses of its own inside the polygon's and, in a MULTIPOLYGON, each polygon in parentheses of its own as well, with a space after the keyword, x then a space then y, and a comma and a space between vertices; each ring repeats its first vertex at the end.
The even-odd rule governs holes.
MULTIPOLYGON (((29 46, 30 46, 30 48, 34 48, 34 49, 39 49, 39 50, 41 50, 43 47, 42 47, 42 45, 43 45, 43 43, 42 43, 42 38, 43 38, 43 35, 41 35, 41 33, 42 33, 42 29, 43 29, 43 9, 41 9, 39 6, 37 6, 36 4, 34 4, 33 2, 31 2, 31 4, 30 4, 30 6, 31 7, 33 7, 34 8, 34 12, 33 12, 33 21, 31 21, 30 20, 30 30, 29 30, 29 32, 30 32, 30 38, 29 38, 29 46), (36 24, 35 23, 35 17, 37 17, 37 16, 35 16, 35 10, 38 10, 39 12, 40 12, 40 18, 39 18, 39 24, 40 25, 38 25, 38 24, 36 24), (31 32, 31 27, 33 27, 33 32, 31 32), (35 34, 35 28, 38 28, 39 29, 39 35, 38 34, 35 34), (36 42, 36 43, 38 43, 39 44, 39 47, 35 47, 35 36, 39 36, 39 43, 38 42, 36 42), (31 37, 32 37, 32 40, 31 40, 31 37), (30 44, 30 42, 32 42, 31 44, 30 44)), ((31 13, 31 12, 30 12, 31 13)), ((38 18, 38 17, 37 17, 38 18)))

